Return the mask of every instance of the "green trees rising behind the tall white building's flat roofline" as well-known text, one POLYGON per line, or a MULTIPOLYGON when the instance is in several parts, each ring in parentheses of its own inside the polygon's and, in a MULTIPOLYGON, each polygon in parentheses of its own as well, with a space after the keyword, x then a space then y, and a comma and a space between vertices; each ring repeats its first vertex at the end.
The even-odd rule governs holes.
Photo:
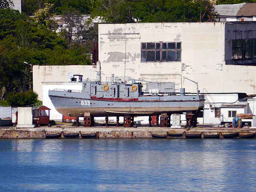
MULTIPOLYGON (((213 5, 202 0, 202 15, 214 16, 213 5)), ((200 0, 93 0, 92 14, 110 23, 198 22, 200 0)))

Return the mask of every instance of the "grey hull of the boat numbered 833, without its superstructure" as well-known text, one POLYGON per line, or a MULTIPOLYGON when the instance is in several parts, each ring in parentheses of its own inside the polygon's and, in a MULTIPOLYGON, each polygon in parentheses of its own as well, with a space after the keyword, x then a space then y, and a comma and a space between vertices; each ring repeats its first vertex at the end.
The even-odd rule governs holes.
POLYGON ((202 95, 190 96, 142 96, 126 100, 116 98, 91 98, 85 92, 49 91, 55 109, 71 117, 82 117, 90 113, 94 117, 153 116, 161 113, 182 113, 198 111, 204 106, 202 95))

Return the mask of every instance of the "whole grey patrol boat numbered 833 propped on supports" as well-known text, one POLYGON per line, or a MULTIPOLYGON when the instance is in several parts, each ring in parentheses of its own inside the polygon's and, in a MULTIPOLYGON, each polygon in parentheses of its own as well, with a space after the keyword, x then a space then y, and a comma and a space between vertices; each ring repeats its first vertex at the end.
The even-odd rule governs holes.
MULTIPOLYGON (((97 76, 100 77, 100 72, 97 76)), ((166 83, 157 82, 154 89, 144 92, 139 80, 123 82, 113 74, 106 82, 100 78, 82 81, 82 75, 73 74, 69 78, 81 84, 81 90, 49 90, 55 109, 65 116, 82 117, 84 113, 92 117, 170 115, 197 112, 204 106, 204 96, 198 94, 198 86, 197 94, 186 94, 184 88, 176 93, 173 87, 166 88, 166 83)))

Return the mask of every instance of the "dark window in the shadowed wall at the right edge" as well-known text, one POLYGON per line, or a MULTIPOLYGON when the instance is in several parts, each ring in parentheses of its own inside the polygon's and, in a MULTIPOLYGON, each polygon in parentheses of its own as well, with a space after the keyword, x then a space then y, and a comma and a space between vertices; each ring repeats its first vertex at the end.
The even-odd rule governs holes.
POLYGON ((256 58, 256 39, 234 39, 232 41, 232 59, 256 58))

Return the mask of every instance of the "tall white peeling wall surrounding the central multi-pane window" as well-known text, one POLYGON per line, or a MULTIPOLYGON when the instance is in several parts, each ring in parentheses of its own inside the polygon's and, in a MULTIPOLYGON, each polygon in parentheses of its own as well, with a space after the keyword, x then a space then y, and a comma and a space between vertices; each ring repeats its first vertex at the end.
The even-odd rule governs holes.
POLYGON ((99 24, 102 79, 115 74, 121 79, 125 76, 173 81, 176 88, 182 86, 187 92, 196 92, 196 85, 186 77, 198 82, 201 92, 205 88, 208 92, 256 94, 255 66, 225 64, 225 54, 230 57, 226 50, 231 48, 227 37, 254 37, 256 23, 234 23, 232 29, 227 25, 224 22, 99 24), (235 34, 230 31, 233 28, 235 34), (181 42, 181 62, 141 62, 142 42, 181 42))

